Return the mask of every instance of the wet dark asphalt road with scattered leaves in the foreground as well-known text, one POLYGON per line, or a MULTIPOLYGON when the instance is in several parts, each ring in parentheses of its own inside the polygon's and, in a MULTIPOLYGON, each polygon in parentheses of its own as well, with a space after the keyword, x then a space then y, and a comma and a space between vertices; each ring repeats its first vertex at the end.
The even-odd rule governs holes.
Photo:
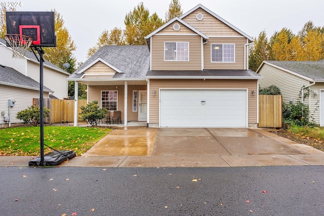
POLYGON ((0 167, 0 215, 323 215, 323 172, 324 166, 0 167))

